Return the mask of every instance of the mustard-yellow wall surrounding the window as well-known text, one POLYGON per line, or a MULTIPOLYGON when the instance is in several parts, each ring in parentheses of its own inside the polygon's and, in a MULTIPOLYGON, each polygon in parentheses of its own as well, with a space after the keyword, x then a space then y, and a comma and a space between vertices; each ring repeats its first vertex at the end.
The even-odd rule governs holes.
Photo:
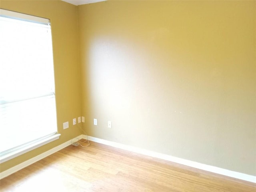
MULTIPOLYGON (((81 80, 78 55, 77 6, 62 1, 0 0, 0 8, 49 18, 56 86, 56 107, 60 139, 0 164, 1 172, 80 135, 72 119, 81 116, 81 80), (69 128, 63 130, 63 122, 69 128)), ((43 123, 38 122, 38 123, 43 123)), ((14 133, 15 134, 15 133, 14 133)))

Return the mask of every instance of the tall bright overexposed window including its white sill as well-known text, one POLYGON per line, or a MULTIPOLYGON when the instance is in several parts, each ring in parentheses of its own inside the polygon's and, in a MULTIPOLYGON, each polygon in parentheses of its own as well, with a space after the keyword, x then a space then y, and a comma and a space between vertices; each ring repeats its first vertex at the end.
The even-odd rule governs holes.
POLYGON ((57 139, 50 20, 0 10, 0 160, 57 139))

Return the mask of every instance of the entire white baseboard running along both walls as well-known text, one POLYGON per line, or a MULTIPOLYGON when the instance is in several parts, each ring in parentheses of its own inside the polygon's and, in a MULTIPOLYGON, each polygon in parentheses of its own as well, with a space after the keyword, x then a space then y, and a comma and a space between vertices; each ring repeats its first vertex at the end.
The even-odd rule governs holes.
MULTIPOLYGON (((87 137, 85 135, 80 135, 77 138, 86 138, 87 137)), ((124 149, 124 150, 128 150, 128 151, 132 151, 132 152, 136 152, 139 154, 143 154, 143 155, 147 155, 147 156, 151 156, 154 158, 159 158, 159 159, 163 159, 163 160, 167 160, 170 162, 175 162, 178 164, 182 164, 182 165, 186 165, 186 166, 190 166, 193 168, 197 168, 197 169, 201 169, 201 170, 205 170, 208 172, 213 172, 213 173, 217 173, 217 174, 221 174, 224 176, 229 176, 232 178, 237 178, 240 180, 245 180, 248 182, 253 182, 256 183, 256 176, 252 176, 252 175, 248 175, 248 174, 244 174, 244 173, 239 173, 239 172, 235 172, 235 171, 230 171, 230 170, 226 170, 223 168, 218 168, 215 166, 210 166, 210 165, 206 165, 206 164, 202 164, 202 163, 198 163, 198 162, 194 162, 194 161, 190 161, 190 160, 186 160, 186 159, 182 159, 182 158, 178 158, 178 157, 174 157, 174 156, 170 156, 170 155, 166 155, 166 154, 162 154, 162 153, 158 153, 158 152, 153 152, 150 150, 145 150, 145 149, 141 149, 141 148, 137 148, 137 147, 133 147, 133 146, 129 146, 129 145, 125 145, 125 144, 120 144, 117 142, 112 142, 112 141, 108 141, 108 140, 104 140, 104 139, 100 139, 100 138, 96 138, 96 137, 92 137, 92 136, 88 136, 88 139, 90 141, 94 141, 94 142, 98 142, 98 143, 102 143, 105 145, 109 145, 109 146, 113 146, 116 148, 120 148, 120 149, 124 149)), ((37 162, 67 146, 69 146, 71 144, 71 140, 60 144, 59 146, 56 146, 38 156, 35 156, 34 158, 31 158, 29 160, 26 160, 25 162, 22 162, 6 171, 3 171, 0 173, 0 179, 9 176, 10 174, 13 174, 14 172, 17 172, 18 170, 21 170, 23 168, 25 168, 26 166, 29 166, 31 164, 33 164, 34 162, 37 162)))

